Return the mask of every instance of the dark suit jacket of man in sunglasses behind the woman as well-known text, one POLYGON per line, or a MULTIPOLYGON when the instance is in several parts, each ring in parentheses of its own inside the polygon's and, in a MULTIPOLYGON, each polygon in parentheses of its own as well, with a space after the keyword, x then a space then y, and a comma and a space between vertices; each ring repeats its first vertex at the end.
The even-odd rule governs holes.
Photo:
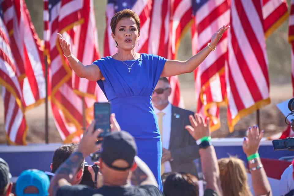
POLYGON ((186 125, 190 125, 189 115, 194 113, 179 107, 171 107, 171 136, 168 150, 173 157, 170 161, 173 172, 186 172, 197 176, 193 160, 200 157, 199 148, 185 129, 186 125))

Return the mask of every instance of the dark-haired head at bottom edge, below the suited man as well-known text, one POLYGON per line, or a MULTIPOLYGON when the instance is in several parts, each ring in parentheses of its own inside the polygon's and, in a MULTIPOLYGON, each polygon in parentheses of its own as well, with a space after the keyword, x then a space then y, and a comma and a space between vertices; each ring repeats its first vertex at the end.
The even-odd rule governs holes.
POLYGON ((165 196, 198 196, 198 179, 187 173, 170 174, 163 186, 165 196))

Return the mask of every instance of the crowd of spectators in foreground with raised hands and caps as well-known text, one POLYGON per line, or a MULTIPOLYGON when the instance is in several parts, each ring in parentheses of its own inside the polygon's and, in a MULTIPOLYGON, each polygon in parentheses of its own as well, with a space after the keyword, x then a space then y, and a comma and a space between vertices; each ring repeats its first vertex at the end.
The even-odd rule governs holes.
MULTIPOLYGON (((149 167, 138 156, 134 138, 120 130, 112 114, 111 134, 102 144, 96 138, 102 130, 94 130, 94 123, 88 127, 80 143, 62 145, 55 150, 51 163, 51 172, 29 169, 23 171, 17 179, 15 194, 21 195, 165 195, 194 196, 202 193, 205 196, 216 195, 272 195, 271 188, 258 156, 258 147, 263 132, 258 126, 249 127, 248 135, 243 141, 243 151, 247 155, 249 172, 252 176, 254 193, 250 192, 247 183, 247 171, 242 160, 228 157, 217 160, 213 145, 210 142, 209 120, 201 115, 189 116, 187 132, 194 140, 205 142, 198 148, 205 179, 205 189, 198 183, 195 175, 186 172, 171 172, 166 176, 163 192, 149 167), (85 157, 100 150, 99 166, 95 172, 88 166, 90 180, 95 187, 82 184, 85 168, 85 157), (49 181, 51 178, 51 181, 49 181)), ((139 127, 138 127, 139 129, 139 127)), ((293 173, 294 176, 294 173, 293 173)), ((13 195, 9 166, 0 159, 0 195, 13 195)), ((292 179, 293 180, 293 179, 292 179)), ((294 180, 293 180, 294 181, 294 180)), ((293 192, 293 190, 292 190, 293 192)), ((290 195, 290 194, 285 194, 290 195)))

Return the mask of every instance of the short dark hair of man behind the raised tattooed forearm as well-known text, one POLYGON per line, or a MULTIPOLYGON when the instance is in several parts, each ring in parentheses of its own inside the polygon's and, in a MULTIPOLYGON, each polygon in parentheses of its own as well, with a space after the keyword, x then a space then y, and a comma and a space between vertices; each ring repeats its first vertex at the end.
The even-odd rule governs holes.
MULTIPOLYGON (((72 153, 77 150, 77 144, 71 143, 60 146, 55 150, 53 159, 52 159, 52 173, 55 173, 57 168, 68 158, 72 153)), ((81 166, 77 169, 79 171, 81 168, 84 168, 84 161, 81 166)))

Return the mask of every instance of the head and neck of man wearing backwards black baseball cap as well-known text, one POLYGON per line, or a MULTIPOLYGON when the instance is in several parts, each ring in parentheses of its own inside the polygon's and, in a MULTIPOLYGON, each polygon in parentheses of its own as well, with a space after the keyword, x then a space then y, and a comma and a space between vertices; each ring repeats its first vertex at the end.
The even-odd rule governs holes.
POLYGON ((103 139, 100 172, 104 185, 126 184, 136 169, 137 146, 133 136, 125 131, 114 132, 103 139))

